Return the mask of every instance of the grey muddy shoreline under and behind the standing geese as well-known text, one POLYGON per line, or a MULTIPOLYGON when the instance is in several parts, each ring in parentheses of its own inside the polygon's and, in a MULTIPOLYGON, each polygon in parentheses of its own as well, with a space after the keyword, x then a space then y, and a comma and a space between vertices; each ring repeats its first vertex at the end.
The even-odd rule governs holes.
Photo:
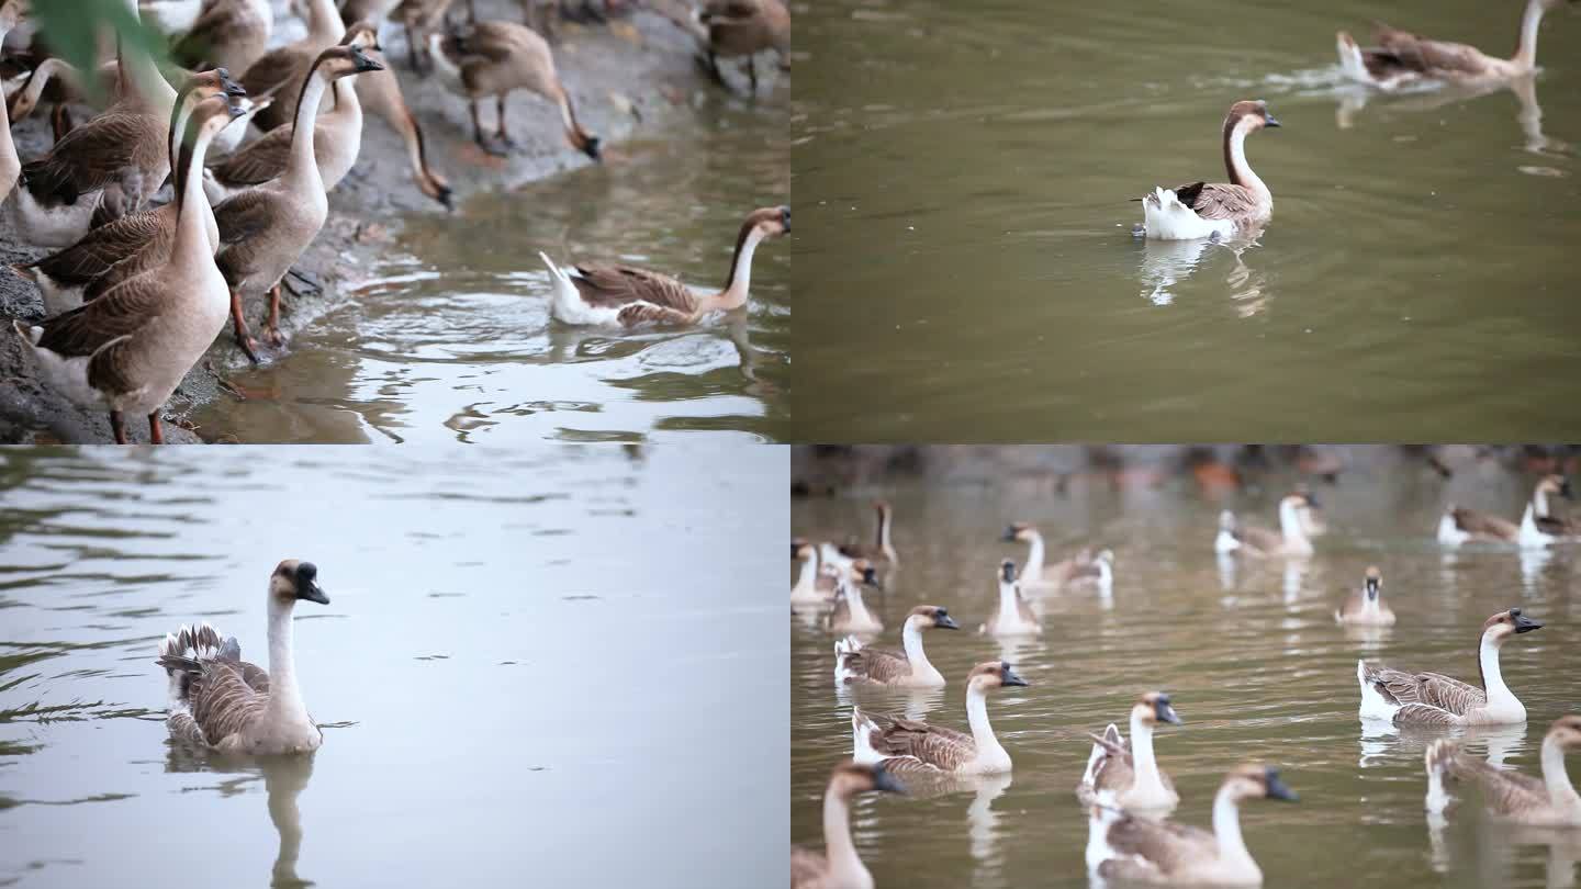
MULTIPOLYGON (((520 5, 511 0, 479 0, 482 19, 520 21, 520 5)), ((275 43, 300 35, 300 22, 277 16, 275 43)), ((406 43, 400 27, 381 30, 384 54, 397 73, 406 106, 422 125, 430 168, 454 191, 457 210, 465 212, 471 195, 509 190, 541 180, 588 161, 564 139, 558 111, 545 100, 515 92, 509 103, 511 134, 519 147, 509 158, 484 153, 471 141, 471 120, 465 100, 447 92, 436 78, 421 78, 408 66, 406 43)), ((575 103, 582 125, 598 134, 604 163, 621 163, 621 142, 634 138, 686 138, 678 131, 685 109, 700 101, 721 101, 723 90, 708 79, 696 57, 697 41, 672 17, 642 9, 610 25, 561 22, 553 44, 560 76, 575 103)), ((759 60, 762 74, 770 65, 759 60)), ((743 76, 727 65, 726 78, 738 95, 746 93, 743 76)), ((789 76, 773 73, 762 92, 789 89, 789 76)), ((484 103, 484 127, 493 125, 490 101, 484 103)), ((79 114, 77 117, 84 117, 79 114)), ((35 114, 14 128, 17 150, 35 157, 49 144, 46 115, 35 114)), ((291 337, 348 299, 376 269, 376 259, 397 240, 406 214, 444 214, 444 207, 417 190, 408 150, 381 119, 367 115, 357 166, 329 196, 329 221, 302 255, 296 269, 305 272, 319 291, 289 294, 285 301, 281 331, 291 337)), ((43 302, 32 282, 9 269, 46 255, 46 250, 17 244, 16 233, 0 220, 0 443, 108 443, 109 419, 101 411, 84 411, 46 389, 36 378, 32 356, 9 331, 11 320, 43 318, 43 302)), ((256 327, 264 301, 251 299, 248 321, 256 327)), ((266 346, 267 348, 267 346, 266 346)), ((288 353, 266 354, 266 361, 288 353)), ((190 416, 215 399, 247 397, 226 384, 226 376, 250 367, 231 335, 231 327, 210 346, 209 354, 187 375, 166 405, 166 441, 234 441, 225 429, 187 429, 190 416)), ((128 418, 133 441, 147 441, 147 424, 128 418)))

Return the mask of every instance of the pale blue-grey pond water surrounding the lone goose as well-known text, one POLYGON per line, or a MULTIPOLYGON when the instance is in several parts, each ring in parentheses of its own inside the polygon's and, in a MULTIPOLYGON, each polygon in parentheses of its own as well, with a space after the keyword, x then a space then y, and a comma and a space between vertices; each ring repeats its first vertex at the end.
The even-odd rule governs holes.
POLYGON ((719 443, 5 451, 0 884, 778 880, 786 484, 719 443), (172 747, 158 641, 267 663, 286 557, 330 598, 294 634, 323 748, 172 747), (721 704, 759 739, 727 780, 721 704))

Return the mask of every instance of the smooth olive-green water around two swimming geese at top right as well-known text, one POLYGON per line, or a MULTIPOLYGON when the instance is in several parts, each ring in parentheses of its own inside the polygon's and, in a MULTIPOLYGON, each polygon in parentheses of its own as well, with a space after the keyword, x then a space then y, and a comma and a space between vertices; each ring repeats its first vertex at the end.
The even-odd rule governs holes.
POLYGON ((1567 433, 1581 14, 1545 19, 1530 96, 1369 98, 1334 55, 1379 16, 1508 54, 1521 6, 809 8, 798 437, 1567 433), (1240 98, 1284 122, 1247 144, 1274 193, 1260 242, 1134 240, 1129 199, 1222 182, 1240 98))

